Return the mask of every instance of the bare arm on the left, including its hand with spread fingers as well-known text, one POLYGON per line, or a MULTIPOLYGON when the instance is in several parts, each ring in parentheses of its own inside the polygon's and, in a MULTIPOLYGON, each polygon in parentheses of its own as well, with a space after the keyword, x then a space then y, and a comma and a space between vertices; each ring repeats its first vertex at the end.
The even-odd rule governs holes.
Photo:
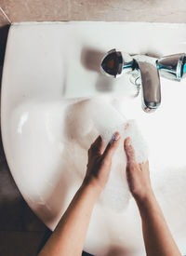
POLYGON ((109 178, 119 134, 103 148, 99 137, 88 151, 86 177, 39 256, 82 255, 92 209, 109 178))

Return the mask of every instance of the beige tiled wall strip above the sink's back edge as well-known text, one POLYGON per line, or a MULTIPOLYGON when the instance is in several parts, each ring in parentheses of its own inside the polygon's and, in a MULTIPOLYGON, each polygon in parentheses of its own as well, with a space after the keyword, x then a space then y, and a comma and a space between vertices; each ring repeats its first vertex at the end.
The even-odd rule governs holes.
MULTIPOLYGON (((11 21, 128 20, 186 22, 185 0, 0 0, 11 21)), ((0 24, 8 22, 0 14, 0 24)))

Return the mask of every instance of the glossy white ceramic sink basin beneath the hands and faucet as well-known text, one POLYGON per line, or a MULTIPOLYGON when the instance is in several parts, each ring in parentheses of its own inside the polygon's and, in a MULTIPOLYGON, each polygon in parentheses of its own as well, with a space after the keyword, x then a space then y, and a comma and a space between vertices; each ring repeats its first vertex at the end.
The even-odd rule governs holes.
MULTIPOLYGON (((20 193, 53 230, 86 171, 86 153, 98 131, 86 106, 101 95, 147 141, 155 194, 182 254, 186 253, 186 81, 161 78, 162 105, 142 111, 127 76, 100 74, 113 47, 131 54, 186 52, 186 24, 127 22, 14 23, 8 34, 1 96, 7 163, 20 193)), ((96 106, 95 106, 96 107, 96 106)), ((90 114, 91 115, 91 114, 90 114)), ((86 236, 94 255, 144 255, 140 215, 98 202, 86 236)))

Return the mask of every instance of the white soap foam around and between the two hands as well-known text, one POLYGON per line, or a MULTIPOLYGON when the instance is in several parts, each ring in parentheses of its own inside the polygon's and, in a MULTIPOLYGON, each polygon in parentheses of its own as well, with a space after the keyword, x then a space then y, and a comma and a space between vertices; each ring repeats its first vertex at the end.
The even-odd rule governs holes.
POLYGON ((131 197, 126 181, 124 141, 127 137, 131 138, 137 162, 145 162, 148 159, 148 149, 137 123, 127 120, 111 104, 94 99, 90 102, 89 112, 105 147, 115 131, 120 133, 120 144, 113 155, 110 178, 100 195, 100 202, 113 210, 121 211, 126 209, 131 197))

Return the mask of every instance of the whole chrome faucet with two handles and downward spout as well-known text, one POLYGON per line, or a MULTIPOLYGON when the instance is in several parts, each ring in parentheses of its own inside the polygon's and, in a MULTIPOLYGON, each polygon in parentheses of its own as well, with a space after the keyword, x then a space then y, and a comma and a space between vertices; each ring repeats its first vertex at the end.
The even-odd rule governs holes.
POLYGON ((147 55, 129 55, 112 49, 101 61, 101 71, 112 77, 131 74, 130 81, 142 88, 142 109, 153 112, 161 104, 160 77, 180 81, 186 77, 186 54, 179 53, 161 59, 147 55))

